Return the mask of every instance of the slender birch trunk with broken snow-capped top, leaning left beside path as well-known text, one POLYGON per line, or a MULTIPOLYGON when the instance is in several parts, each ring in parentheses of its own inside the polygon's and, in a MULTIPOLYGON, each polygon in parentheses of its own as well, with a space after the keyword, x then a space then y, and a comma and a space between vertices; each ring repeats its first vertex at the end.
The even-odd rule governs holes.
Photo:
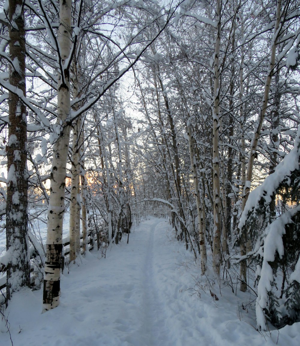
POLYGON ((199 189, 199 181, 198 181, 198 174, 197 174, 197 166, 196 166, 196 160, 194 157, 191 118, 189 118, 188 120, 187 129, 188 129, 188 142, 189 142, 191 170, 193 174, 195 200, 196 200, 196 207, 197 207, 198 234, 199 234, 200 257, 201 257, 201 274, 204 275, 207 269, 206 242, 205 242, 205 233, 204 233, 205 228, 203 224, 203 212, 202 212, 202 205, 200 201, 200 189, 199 189))

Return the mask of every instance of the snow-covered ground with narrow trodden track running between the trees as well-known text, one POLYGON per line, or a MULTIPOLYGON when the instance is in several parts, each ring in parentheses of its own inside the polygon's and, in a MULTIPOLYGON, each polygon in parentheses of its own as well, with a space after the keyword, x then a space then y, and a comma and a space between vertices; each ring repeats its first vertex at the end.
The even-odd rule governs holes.
POLYGON ((199 272, 169 221, 151 218, 106 258, 93 250, 70 266, 56 309, 41 313, 42 290, 15 293, 4 312, 12 342, 2 319, 0 345, 299 345, 299 323, 256 331, 255 297, 199 272))

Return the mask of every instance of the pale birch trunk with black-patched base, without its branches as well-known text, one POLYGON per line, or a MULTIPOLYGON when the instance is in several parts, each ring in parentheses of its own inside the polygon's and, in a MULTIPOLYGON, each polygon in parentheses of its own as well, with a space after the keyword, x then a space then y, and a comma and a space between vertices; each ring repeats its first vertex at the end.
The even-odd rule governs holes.
POLYGON ((71 54, 71 0, 60 0, 60 26, 58 43, 62 72, 58 79, 57 91, 57 124, 61 132, 53 145, 53 161, 51 168, 51 185, 48 207, 46 263, 44 274, 43 312, 59 305, 60 272, 62 257, 62 230, 65 210, 65 179, 66 162, 70 141, 70 126, 66 120, 70 117, 70 71, 65 66, 66 59, 71 54))

